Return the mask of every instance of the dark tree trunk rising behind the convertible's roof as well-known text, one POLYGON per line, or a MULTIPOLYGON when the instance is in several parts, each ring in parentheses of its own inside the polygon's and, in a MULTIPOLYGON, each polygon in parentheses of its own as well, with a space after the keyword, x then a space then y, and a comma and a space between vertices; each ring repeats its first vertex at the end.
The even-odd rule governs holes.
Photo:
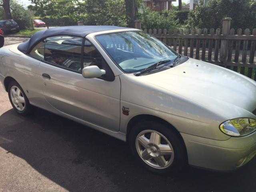
POLYGON ((134 28, 134 21, 136 20, 136 0, 125 0, 126 16, 128 18, 128 27, 134 28))

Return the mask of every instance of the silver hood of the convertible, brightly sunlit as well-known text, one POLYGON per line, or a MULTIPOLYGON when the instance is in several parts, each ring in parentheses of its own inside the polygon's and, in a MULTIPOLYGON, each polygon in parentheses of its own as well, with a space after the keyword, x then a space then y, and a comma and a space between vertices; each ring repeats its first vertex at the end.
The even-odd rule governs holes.
POLYGON ((141 77, 216 111, 238 107, 252 112, 256 108, 255 81, 207 62, 190 58, 174 68, 141 77))

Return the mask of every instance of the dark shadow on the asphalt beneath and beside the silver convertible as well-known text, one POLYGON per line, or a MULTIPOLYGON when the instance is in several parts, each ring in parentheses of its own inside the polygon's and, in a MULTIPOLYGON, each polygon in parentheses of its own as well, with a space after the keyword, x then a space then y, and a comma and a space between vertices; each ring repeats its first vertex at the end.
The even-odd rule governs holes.
MULTIPOLYGON (((44 110, 0 116, 0 147, 71 192, 255 191, 256 160, 232 173, 188 168, 158 176, 140 167, 126 143, 44 110)), ((198 154, 200 155, 200 154, 198 154)))

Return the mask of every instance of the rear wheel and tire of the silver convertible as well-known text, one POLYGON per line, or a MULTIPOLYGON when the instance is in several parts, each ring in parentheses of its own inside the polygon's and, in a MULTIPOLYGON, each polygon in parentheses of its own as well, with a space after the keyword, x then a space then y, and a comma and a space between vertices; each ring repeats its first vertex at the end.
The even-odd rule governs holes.
POLYGON ((21 86, 12 80, 8 84, 8 96, 14 110, 21 115, 28 115, 31 112, 29 100, 21 86))

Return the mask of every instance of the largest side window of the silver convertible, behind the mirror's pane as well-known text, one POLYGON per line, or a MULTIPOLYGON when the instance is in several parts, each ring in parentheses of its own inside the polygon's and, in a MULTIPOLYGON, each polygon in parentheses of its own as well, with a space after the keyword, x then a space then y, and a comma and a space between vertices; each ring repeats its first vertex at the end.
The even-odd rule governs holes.
POLYGON ((53 65, 76 72, 81 68, 82 38, 54 36, 46 38, 44 60, 53 65))

